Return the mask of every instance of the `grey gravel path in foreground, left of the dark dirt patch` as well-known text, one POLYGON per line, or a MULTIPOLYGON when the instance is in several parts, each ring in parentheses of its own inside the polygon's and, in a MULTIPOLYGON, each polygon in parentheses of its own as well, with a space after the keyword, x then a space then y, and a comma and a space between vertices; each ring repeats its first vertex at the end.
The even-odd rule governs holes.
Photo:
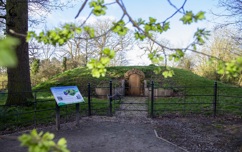
MULTIPOLYGON (((87 117, 82 118, 79 127, 68 123, 61 125, 60 131, 56 131, 55 126, 38 130, 54 133, 56 140, 65 137, 72 152, 183 152, 182 149, 157 138, 151 122, 140 123, 115 117, 87 117)), ((17 140, 9 138, 20 134, 15 133, 0 139, 0 151, 26 152, 27 149, 19 147, 17 140)))

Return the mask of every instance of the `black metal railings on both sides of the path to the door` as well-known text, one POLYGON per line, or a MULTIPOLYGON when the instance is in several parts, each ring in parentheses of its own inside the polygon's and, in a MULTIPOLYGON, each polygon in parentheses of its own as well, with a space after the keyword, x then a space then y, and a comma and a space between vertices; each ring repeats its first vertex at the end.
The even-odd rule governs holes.
MULTIPOLYGON (((80 116, 113 116, 120 106, 120 100, 125 99, 114 94, 116 87, 120 86, 115 86, 110 81, 102 87, 92 86, 89 83, 86 90, 80 90, 85 100, 78 105, 80 116), (103 92, 98 93, 98 88, 103 92)), ((150 117, 173 114, 242 116, 242 88, 239 87, 221 87, 216 82, 211 86, 164 87, 151 82, 147 90, 150 117)), ((0 93, 1 132, 55 124, 57 107, 51 92, 34 91, 32 94, 34 98, 23 105, 5 106, 8 93, 6 91, 0 93)), ((74 104, 59 107, 61 123, 76 119, 76 106, 74 104)))

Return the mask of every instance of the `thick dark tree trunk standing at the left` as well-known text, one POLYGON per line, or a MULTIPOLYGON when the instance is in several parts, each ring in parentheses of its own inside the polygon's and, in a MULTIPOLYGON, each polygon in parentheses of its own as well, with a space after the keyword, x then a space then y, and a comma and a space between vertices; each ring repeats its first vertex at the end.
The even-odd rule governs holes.
POLYGON ((31 93, 30 67, 28 43, 24 36, 12 34, 27 34, 28 31, 28 0, 7 0, 6 4, 6 32, 17 37, 20 45, 16 49, 18 64, 14 68, 8 68, 8 98, 6 105, 24 104, 27 99, 33 98, 31 93))

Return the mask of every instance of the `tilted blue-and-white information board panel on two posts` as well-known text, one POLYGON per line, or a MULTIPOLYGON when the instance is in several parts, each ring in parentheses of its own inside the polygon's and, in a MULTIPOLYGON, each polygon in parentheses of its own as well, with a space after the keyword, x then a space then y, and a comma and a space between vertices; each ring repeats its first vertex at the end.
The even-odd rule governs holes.
POLYGON ((50 90, 58 106, 84 102, 77 86, 51 87, 50 90))

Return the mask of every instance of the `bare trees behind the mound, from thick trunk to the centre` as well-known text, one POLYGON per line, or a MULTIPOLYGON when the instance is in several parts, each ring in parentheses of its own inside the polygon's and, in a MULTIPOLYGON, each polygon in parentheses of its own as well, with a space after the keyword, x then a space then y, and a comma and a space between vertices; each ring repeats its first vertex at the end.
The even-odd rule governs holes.
POLYGON ((126 52, 131 50, 135 43, 133 33, 130 31, 124 36, 119 36, 113 32, 107 32, 112 22, 110 19, 97 20, 89 25, 95 30, 95 38, 91 38, 89 33, 84 31, 81 34, 75 34, 74 38, 61 47, 31 41, 32 81, 36 84, 46 81, 59 72, 86 66, 91 58, 101 58, 105 47, 116 52, 116 57, 111 61, 110 66, 126 65, 128 63, 126 52), (39 70, 33 73, 36 71, 34 70, 36 59, 40 60, 39 70))

